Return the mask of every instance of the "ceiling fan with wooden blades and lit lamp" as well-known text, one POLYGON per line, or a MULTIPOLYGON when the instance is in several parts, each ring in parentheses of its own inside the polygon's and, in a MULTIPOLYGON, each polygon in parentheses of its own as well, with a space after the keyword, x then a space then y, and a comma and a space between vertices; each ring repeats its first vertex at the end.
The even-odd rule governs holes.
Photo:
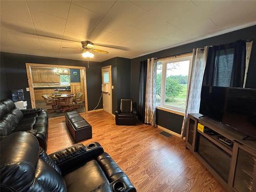
POLYGON ((103 53, 103 54, 108 54, 108 51, 103 51, 100 49, 94 49, 95 44, 90 41, 90 40, 85 40, 85 41, 81 41, 81 48, 78 47, 61 47, 63 49, 82 49, 82 56, 86 57, 86 58, 92 58, 94 57, 94 54, 91 53, 90 51, 94 51, 94 52, 98 52, 98 53, 103 53))

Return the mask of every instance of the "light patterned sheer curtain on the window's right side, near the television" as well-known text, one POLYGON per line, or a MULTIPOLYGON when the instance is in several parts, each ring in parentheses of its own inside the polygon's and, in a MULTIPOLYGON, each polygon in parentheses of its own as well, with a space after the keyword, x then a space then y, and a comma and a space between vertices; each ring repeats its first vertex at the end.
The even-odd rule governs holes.
POLYGON ((189 66, 188 86, 187 86, 187 98, 186 109, 184 114, 184 120, 181 129, 181 138, 186 134, 187 115, 188 113, 199 113, 200 108, 200 95, 201 87, 204 75, 204 69, 206 65, 208 48, 193 49, 193 59, 189 66))

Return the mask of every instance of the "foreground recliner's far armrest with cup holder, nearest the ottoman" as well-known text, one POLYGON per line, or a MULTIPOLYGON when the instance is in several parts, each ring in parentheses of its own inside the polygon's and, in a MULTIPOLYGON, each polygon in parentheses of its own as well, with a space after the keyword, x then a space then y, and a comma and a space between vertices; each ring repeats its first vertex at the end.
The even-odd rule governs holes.
POLYGON ((102 146, 97 142, 86 146, 79 143, 54 152, 49 157, 59 166, 62 174, 65 175, 103 152, 102 146))

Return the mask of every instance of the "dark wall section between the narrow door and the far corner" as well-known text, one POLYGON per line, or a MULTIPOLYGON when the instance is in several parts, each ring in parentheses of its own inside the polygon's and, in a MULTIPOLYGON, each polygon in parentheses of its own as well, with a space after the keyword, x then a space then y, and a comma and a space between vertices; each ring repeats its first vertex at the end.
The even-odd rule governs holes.
POLYGON ((131 59, 114 57, 102 62, 112 68, 112 113, 115 114, 121 98, 130 98, 131 59))

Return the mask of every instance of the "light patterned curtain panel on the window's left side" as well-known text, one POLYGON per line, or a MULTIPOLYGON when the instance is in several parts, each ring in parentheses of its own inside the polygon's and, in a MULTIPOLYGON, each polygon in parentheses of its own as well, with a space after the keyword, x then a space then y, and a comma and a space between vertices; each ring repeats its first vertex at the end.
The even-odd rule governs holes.
POLYGON ((156 73, 155 58, 147 59, 145 123, 156 126, 156 73))

